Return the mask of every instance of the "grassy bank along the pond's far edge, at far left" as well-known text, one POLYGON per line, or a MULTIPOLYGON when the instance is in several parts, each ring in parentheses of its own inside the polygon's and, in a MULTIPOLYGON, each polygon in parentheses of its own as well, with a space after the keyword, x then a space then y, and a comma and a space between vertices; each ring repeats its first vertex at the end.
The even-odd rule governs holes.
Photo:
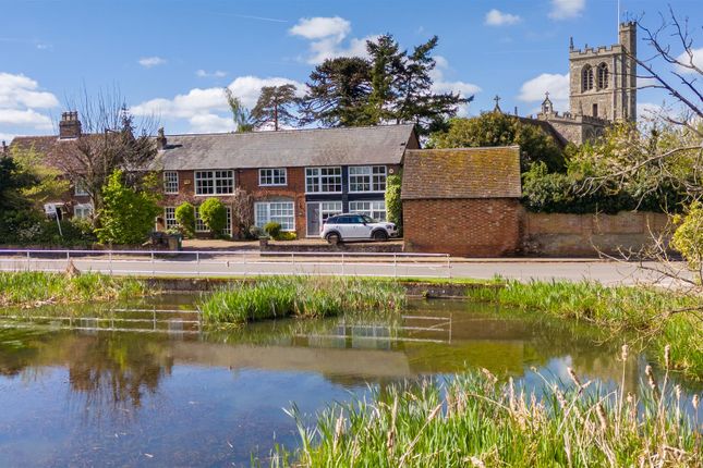
POLYGON ((68 275, 40 271, 0 272, 0 307, 35 307, 144 296, 146 285, 129 276, 68 275))

